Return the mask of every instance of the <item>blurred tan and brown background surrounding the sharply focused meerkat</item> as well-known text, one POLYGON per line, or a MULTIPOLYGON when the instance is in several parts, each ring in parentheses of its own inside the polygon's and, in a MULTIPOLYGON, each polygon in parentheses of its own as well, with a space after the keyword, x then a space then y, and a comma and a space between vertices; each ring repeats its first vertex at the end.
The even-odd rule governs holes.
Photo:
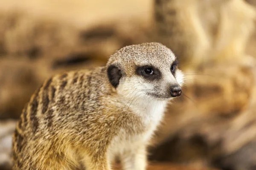
POLYGON ((23 106, 53 74, 161 42, 186 75, 149 147, 152 170, 256 170, 256 0, 1 0, 0 170, 23 106), (158 169, 157 169, 158 168, 158 169), (162 169, 161 169, 162 168, 162 169))

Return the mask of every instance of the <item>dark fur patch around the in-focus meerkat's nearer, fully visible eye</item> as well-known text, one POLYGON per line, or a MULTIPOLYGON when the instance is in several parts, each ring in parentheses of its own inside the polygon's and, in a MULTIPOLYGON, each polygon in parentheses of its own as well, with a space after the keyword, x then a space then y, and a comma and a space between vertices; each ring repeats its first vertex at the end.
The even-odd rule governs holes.
POLYGON ((150 65, 137 66, 136 73, 149 80, 160 79, 161 77, 161 72, 150 65))

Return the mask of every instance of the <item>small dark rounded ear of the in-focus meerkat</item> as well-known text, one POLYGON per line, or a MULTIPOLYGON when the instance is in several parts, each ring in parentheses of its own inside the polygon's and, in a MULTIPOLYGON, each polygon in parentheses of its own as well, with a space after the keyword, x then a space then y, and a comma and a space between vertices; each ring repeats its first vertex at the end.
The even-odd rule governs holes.
POLYGON ((111 85, 114 86, 114 88, 116 88, 119 85, 119 80, 122 77, 122 73, 121 70, 116 67, 115 65, 110 65, 108 67, 108 79, 111 83, 111 85))

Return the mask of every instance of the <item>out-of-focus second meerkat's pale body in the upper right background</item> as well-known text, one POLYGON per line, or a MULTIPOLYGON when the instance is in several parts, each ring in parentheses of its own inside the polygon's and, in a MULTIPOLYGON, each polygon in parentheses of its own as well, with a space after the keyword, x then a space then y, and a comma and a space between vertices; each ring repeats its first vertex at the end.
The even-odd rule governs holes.
POLYGON ((256 19, 244 0, 154 2, 155 40, 175 52, 183 70, 242 60, 256 19))

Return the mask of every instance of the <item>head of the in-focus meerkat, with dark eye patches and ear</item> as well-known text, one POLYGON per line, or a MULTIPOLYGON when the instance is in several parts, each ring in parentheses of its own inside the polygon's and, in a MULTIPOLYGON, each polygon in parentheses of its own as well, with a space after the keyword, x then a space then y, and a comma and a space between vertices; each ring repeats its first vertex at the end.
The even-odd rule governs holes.
POLYGON ((158 42, 130 45, 109 58, 108 79, 128 100, 168 100, 181 95, 183 74, 177 64, 175 54, 158 42))

